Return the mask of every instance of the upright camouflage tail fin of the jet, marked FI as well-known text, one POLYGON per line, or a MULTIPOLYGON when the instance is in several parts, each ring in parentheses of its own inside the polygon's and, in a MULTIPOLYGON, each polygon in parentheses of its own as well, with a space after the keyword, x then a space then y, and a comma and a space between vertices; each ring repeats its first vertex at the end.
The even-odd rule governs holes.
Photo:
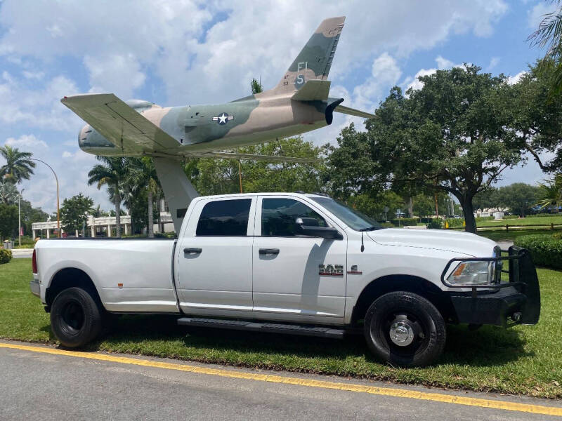
POLYGON ((336 53, 345 16, 329 18, 320 23, 292 65, 273 89, 275 93, 294 92, 313 79, 326 80, 336 53))

